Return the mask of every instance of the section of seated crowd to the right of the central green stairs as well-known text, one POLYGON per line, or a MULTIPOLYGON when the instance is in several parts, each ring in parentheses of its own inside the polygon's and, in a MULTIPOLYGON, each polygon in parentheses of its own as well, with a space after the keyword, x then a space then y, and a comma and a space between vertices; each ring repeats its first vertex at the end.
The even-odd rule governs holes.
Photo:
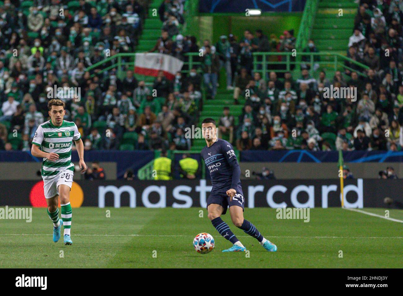
MULTIPOLYGON (((352 70, 346 67, 344 72, 335 72, 334 77, 320 71, 315 79, 309 69, 319 68, 318 58, 313 65, 301 65, 299 79, 286 72, 284 82, 274 71, 269 77, 261 77, 258 72, 250 73, 247 67, 242 68, 234 91, 235 103, 240 95, 246 99, 239 125, 234 125, 233 116, 224 109, 220 130, 227 134, 233 131, 240 151, 401 150, 402 24, 403 0, 361 1, 347 57, 369 67, 363 71, 364 75, 359 75, 360 66, 347 61, 345 66, 352 70), (325 96, 326 89, 331 87, 356 88, 357 96, 325 96), (250 95, 245 96, 247 93, 250 95)), ((245 31, 245 36, 249 33, 245 31)), ((251 44, 257 42, 255 38, 251 44)), ((289 32, 280 37, 278 45, 294 48, 289 32)), ((318 52, 314 40, 309 40, 304 52, 318 52)))

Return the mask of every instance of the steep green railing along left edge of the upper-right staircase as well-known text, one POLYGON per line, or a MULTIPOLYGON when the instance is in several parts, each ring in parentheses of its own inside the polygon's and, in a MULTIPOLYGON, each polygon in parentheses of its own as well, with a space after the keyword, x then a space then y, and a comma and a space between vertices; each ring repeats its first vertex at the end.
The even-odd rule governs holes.
POLYGON ((316 11, 318 10, 319 0, 307 0, 302 13, 301 24, 297 35, 295 48, 302 51, 311 37, 312 27, 314 26, 316 11))

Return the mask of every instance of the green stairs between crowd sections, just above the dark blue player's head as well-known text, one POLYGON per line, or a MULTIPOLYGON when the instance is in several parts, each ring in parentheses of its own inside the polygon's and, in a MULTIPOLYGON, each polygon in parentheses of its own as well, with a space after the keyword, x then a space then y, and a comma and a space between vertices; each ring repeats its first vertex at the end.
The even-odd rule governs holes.
MULTIPOLYGON (((220 120, 220 117, 223 115, 223 108, 228 106, 231 115, 234 116, 235 118, 235 126, 238 125, 238 117, 239 115, 242 114, 242 109, 245 106, 245 99, 240 97, 239 105, 234 105, 234 91, 227 91, 226 89, 217 89, 217 94, 216 97, 212 100, 206 100, 204 99, 203 101, 203 110, 200 112, 200 122, 197 125, 198 127, 201 128, 202 120, 206 117, 211 117, 214 120, 216 120, 216 123, 218 124, 218 121, 220 120)), ((236 131, 234 130, 234 134, 236 131)), ((222 139, 228 140, 228 136, 222 135, 222 139)), ((234 141, 235 141, 235 135, 234 135, 234 141)), ((233 143, 235 145, 235 143, 233 143)), ((191 151, 195 151, 197 153, 200 153, 202 148, 206 146, 206 140, 205 139, 193 139, 191 151)))

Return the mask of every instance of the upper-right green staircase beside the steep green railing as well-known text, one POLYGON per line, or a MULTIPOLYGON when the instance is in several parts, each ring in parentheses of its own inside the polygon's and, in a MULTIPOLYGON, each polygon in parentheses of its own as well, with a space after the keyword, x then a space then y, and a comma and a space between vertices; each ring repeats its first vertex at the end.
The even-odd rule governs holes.
POLYGON ((349 37, 353 34, 358 4, 352 0, 320 0, 311 38, 320 52, 346 55, 349 37), (339 9, 343 16, 339 17, 339 9))

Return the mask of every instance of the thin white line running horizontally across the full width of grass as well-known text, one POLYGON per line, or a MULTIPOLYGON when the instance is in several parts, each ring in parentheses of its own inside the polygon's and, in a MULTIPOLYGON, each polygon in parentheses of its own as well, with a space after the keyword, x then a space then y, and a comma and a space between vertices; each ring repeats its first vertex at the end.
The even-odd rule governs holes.
MULTIPOLYGON (((0 234, 0 236, 51 236, 52 234, 0 234)), ((192 237, 192 235, 164 235, 164 234, 72 234, 72 236, 171 236, 171 237, 192 237)), ((239 235, 238 237, 251 237, 239 235)), ((268 236, 268 238, 403 238, 403 236, 268 236)))

